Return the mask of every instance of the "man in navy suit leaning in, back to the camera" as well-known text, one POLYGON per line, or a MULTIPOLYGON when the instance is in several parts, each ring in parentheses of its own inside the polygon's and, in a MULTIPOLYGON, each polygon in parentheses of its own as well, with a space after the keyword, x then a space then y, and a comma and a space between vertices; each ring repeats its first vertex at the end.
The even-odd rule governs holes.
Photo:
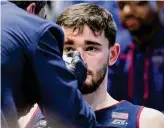
POLYGON ((94 127, 94 113, 78 90, 83 84, 77 83, 76 72, 71 73, 62 59, 61 28, 38 17, 45 17, 45 2, 12 2, 20 8, 1 2, 2 127, 18 128, 18 118, 34 103, 39 104, 49 126, 62 122, 94 127))

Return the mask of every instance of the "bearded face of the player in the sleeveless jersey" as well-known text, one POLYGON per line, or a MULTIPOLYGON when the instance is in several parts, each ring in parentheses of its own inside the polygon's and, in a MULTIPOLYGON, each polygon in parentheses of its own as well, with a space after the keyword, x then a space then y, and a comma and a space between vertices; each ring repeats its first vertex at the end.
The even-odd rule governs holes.
POLYGON ((82 94, 94 92, 105 78, 109 61, 109 42, 104 32, 93 33, 84 25, 79 32, 62 27, 65 34, 64 54, 78 51, 87 66, 87 78, 81 90, 82 94))

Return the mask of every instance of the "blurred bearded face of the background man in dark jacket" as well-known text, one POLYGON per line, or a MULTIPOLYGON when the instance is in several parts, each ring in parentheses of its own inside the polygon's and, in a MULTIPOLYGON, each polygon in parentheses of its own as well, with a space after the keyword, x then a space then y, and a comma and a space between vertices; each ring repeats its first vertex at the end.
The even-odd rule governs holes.
POLYGON ((154 12, 147 1, 119 1, 118 7, 121 22, 130 32, 150 24, 154 17, 154 12))

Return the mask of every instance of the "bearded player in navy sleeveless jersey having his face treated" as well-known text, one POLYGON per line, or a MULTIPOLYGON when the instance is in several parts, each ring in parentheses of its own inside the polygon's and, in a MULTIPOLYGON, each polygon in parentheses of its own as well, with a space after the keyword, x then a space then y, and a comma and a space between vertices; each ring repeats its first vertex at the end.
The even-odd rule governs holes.
POLYGON ((163 128, 164 115, 159 111, 116 101, 107 92, 108 65, 115 63, 120 51, 108 11, 92 4, 73 5, 59 16, 57 24, 65 35, 64 54, 79 52, 87 65, 80 91, 95 110, 96 127, 163 128))

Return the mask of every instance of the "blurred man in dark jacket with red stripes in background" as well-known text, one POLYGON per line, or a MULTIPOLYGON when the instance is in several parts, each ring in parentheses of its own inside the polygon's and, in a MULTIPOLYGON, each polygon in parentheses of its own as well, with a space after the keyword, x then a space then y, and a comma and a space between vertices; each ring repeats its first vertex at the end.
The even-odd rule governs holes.
POLYGON ((110 68, 109 93, 118 100, 164 111, 164 26, 158 9, 151 5, 150 1, 118 2, 132 42, 110 68))

